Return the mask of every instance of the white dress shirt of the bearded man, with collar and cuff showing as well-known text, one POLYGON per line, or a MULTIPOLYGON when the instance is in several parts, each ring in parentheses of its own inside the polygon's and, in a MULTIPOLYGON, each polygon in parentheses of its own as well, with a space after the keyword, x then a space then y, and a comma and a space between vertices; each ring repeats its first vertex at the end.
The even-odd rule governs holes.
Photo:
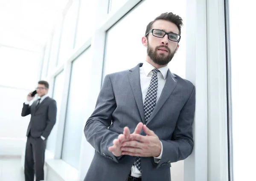
MULTIPOLYGON (((152 72, 153 69, 155 69, 155 67, 146 61, 143 63, 143 66, 140 67, 140 86, 141 86, 141 92, 142 92, 143 105, 145 102, 145 97, 148 91, 150 80, 153 75, 153 72, 152 72)), ((164 66, 158 69, 160 72, 157 72, 157 79, 158 79, 157 101, 159 100, 160 95, 163 91, 163 87, 166 83, 168 69, 169 69, 168 66, 164 66)), ((160 159, 162 158, 162 155, 163 155, 163 144, 161 142, 161 153, 159 157, 154 157, 154 161, 156 163, 159 162, 160 159)), ((137 178, 141 177, 141 172, 134 165, 131 167, 131 176, 137 177, 137 178)))

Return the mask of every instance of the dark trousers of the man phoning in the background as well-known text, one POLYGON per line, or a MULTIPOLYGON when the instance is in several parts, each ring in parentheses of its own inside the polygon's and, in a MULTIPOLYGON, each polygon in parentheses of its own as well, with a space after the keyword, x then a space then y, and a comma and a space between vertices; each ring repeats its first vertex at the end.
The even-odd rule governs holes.
POLYGON ((30 135, 26 142, 25 152, 25 181, 44 180, 44 152, 46 140, 33 138, 30 135))

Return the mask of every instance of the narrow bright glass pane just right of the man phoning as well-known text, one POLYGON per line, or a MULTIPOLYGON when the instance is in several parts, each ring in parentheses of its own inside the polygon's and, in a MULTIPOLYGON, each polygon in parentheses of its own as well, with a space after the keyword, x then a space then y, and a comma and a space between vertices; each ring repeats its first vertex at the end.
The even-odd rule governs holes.
POLYGON ((62 100, 63 84, 64 84, 64 73, 62 71, 54 79, 54 89, 53 89, 53 94, 52 94, 52 98, 55 99, 55 101, 57 103, 56 123, 53 126, 53 129, 52 129, 51 134, 49 135, 48 141, 47 141, 47 149, 49 151, 51 151, 52 153, 55 152, 57 129, 58 129, 61 100, 62 100))

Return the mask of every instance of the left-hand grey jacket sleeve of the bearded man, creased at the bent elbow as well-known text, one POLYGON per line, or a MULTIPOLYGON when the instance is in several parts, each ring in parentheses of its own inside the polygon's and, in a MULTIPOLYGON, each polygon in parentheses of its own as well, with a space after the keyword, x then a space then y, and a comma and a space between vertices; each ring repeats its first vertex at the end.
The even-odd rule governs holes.
POLYGON ((111 126, 112 113, 115 109, 116 100, 111 79, 109 75, 106 75, 99 92, 96 108, 84 126, 84 135, 97 152, 118 163, 119 160, 112 152, 108 151, 108 147, 113 145, 113 140, 119 135, 108 129, 111 126))

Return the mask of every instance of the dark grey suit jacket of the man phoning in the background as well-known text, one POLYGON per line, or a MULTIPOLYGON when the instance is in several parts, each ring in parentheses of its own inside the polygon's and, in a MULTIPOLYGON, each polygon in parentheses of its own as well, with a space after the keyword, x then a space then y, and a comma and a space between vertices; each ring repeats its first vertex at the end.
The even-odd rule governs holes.
POLYGON ((30 132, 30 135, 34 138, 43 136, 47 139, 56 122, 56 101, 47 97, 37 107, 36 104, 37 101, 34 101, 31 106, 23 103, 21 116, 31 114, 26 136, 30 132))

